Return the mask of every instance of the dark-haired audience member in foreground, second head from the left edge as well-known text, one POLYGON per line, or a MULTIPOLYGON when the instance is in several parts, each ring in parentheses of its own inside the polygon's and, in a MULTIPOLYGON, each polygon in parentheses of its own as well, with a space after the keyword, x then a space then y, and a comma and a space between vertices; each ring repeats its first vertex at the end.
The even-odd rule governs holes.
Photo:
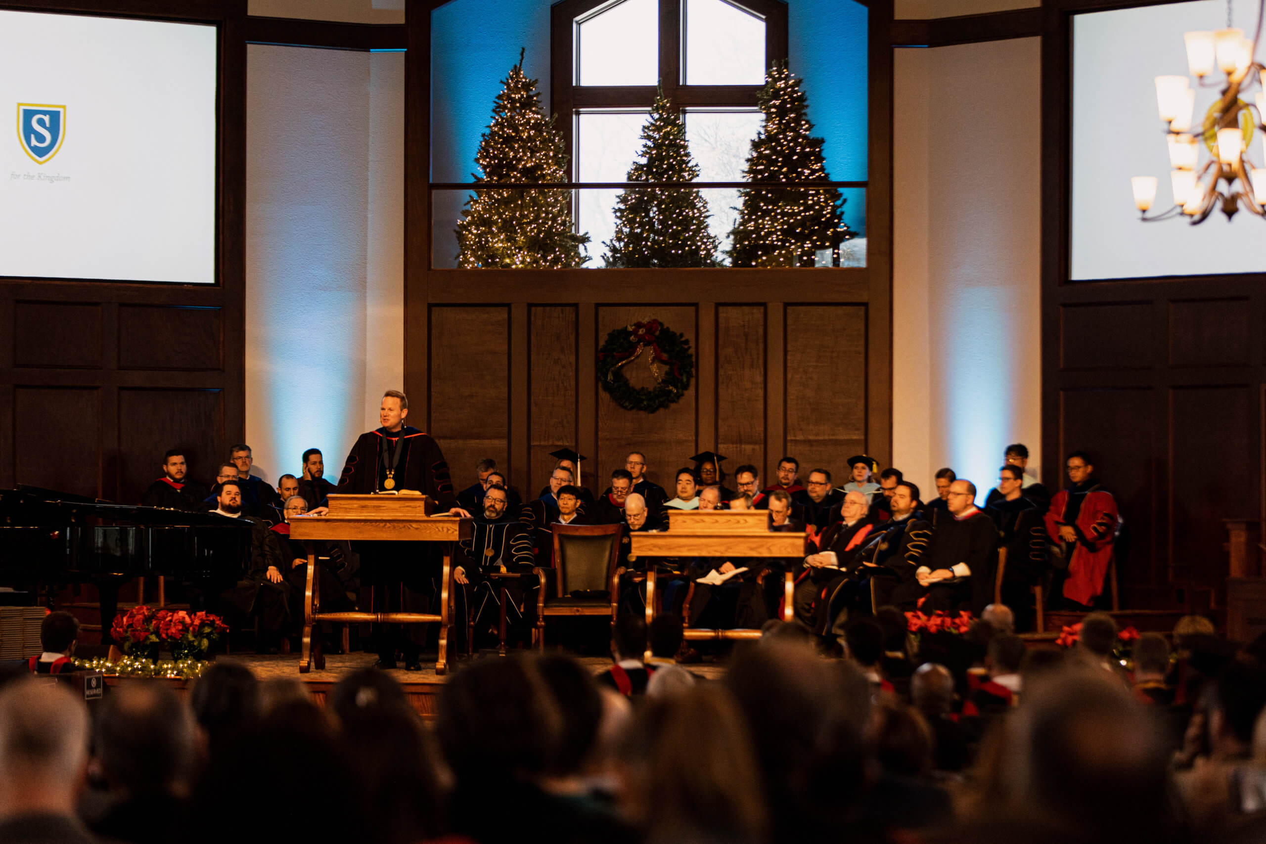
POLYGON ((194 714, 170 687, 111 688, 95 720, 95 759, 109 807, 91 824, 111 841, 161 844, 182 829, 197 763, 194 714))

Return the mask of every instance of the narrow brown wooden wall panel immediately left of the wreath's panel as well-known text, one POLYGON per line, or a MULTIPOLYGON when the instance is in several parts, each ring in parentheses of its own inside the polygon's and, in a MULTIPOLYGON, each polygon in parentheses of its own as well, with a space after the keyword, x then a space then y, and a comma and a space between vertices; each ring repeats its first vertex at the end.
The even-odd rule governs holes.
MULTIPOLYGON (((544 486, 553 468, 549 452, 561 445, 576 447, 576 382, 579 367, 577 307, 575 305, 541 305, 530 314, 530 447, 524 478, 517 481, 524 500, 532 499, 544 486)), ((590 456, 581 449, 581 454, 590 456)), ((589 486, 595 492, 604 488, 603 477, 592 475, 592 466, 581 466, 589 486)))

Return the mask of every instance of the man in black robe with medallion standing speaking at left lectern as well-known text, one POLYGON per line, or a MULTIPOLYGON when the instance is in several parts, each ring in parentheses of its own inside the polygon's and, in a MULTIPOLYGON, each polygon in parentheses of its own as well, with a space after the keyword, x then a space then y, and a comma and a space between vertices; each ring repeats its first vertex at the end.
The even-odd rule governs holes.
MULTIPOLYGON (((382 394, 379 407, 382 426, 361 434, 356 440, 334 492, 368 495, 409 490, 432 499, 436 512, 448 511, 468 518, 470 514, 456 506, 457 496, 439 444, 429 434, 405 425, 408 415, 409 399, 403 392, 387 390, 382 394)), ((357 550, 362 578, 373 590, 373 612, 430 611, 430 600, 439 593, 441 572, 438 549, 433 548, 433 543, 424 543, 418 549, 413 543, 361 542, 357 550)), ((425 642, 424 624, 376 625, 377 667, 395 668, 399 649, 404 654, 405 669, 419 671, 425 642), (408 630, 401 631, 400 628, 408 630)))

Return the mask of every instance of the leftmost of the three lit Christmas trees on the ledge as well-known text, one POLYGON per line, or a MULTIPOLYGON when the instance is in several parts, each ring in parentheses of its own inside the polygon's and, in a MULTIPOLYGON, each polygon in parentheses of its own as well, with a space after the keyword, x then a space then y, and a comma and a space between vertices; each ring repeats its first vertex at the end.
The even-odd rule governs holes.
MULTIPOLYGON (((501 81, 492 106, 492 123, 484 133, 475 163, 476 182, 566 182, 567 152, 555 119, 541 109, 537 80, 519 63, 501 81)), ((566 190, 475 189, 457 221, 457 266, 472 268, 562 270, 589 258, 580 247, 587 234, 571 225, 571 195, 566 190)))

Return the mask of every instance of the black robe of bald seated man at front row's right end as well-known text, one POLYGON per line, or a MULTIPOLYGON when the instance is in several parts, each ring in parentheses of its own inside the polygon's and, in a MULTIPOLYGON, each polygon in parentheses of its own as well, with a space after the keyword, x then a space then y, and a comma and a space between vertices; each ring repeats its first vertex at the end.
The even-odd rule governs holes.
POLYGON ((994 600, 994 574, 998 567, 998 529, 984 510, 966 518, 952 514, 942 518, 932 530, 927 550, 917 558, 918 566, 932 571, 967 563, 971 574, 958 581, 932 583, 924 590, 923 611, 971 610, 980 615, 994 600))

